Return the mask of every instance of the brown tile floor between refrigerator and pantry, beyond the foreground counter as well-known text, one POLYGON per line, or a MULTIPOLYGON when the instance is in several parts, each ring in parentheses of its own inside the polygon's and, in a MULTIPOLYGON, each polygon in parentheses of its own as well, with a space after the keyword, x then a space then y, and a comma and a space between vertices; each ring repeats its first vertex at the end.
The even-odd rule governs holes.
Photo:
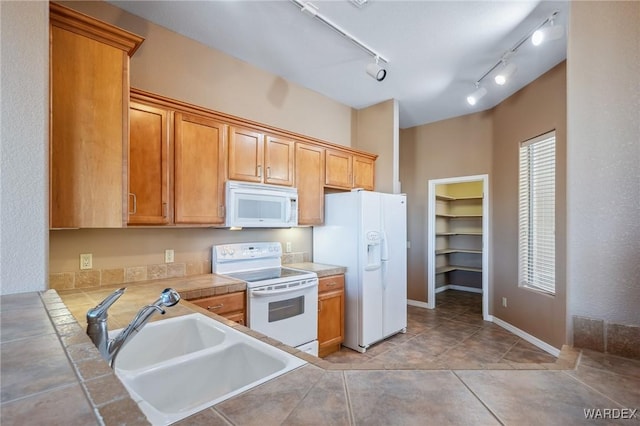
POLYGON ((455 290, 439 293, 436 309, 409 306, 406 334, 372 345, 364 354, 343 347, 332 363, 421 369, 540 369, 556 358, 504 328, 482 320, 482 295, 455 290))

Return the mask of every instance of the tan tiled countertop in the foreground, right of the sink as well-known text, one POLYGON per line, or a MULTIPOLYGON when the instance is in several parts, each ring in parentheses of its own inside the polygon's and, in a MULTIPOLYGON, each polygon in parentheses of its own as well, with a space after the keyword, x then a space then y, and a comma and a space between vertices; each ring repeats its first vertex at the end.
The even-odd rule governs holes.
POLYGON ((569 370, 323 370, 307 365, 178 423, 236 426, 638 425, 640 361, 569 370))

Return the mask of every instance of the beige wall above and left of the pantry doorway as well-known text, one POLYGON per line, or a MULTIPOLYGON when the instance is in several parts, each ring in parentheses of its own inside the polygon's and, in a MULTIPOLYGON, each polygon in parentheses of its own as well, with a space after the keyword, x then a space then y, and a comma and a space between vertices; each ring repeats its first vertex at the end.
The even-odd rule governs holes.
POLYGON ((427 301, 428 182, 491 170, 492 116, 465 115, 400 130, 400 181, 407 194, 407 296, 427 301))

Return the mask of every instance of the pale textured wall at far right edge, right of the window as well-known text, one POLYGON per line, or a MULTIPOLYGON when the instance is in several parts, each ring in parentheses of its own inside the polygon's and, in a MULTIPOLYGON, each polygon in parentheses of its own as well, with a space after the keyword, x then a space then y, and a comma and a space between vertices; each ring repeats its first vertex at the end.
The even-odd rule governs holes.
POLYGON ((572 2, 569 41, 569 316, 640 325, 640 2, 572 2))

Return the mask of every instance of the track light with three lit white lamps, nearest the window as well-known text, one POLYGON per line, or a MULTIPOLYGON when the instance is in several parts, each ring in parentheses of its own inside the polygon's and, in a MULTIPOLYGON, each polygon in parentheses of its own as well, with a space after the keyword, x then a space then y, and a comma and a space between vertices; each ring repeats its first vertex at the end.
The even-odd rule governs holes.
POLYGON ((520 48, 520 46, 522 46, 524 44, 524 42, 526 42, 527 40, 531 39, 531 42, 534 45, 537 46, 540 43, 542 43, 543 41, 546 41, 546 40, 557 40, 557 39, 561 38, 564 35, 564 28, 561 25, 554 25, 553 24, 553 20, 554 20, 554 18, 556 17, 556 15, 558 13, 559 13, 558 10, 554 11, 540 25, 538 25, 537 27, 535 27, 534 29, 529 31, 516 44, 514 44, 511 49, 507 50, 502 55, 500 60, 498 62, 496 62, 496 64, 494 66, 489 68, 489 70, 487 72, 485 72, 482 75, 482 77, 480 77, 479 79, 476 80, 476 82, 475 82, 475 86, 476 86, 475 92, 473 92, 472 94, 467 96, 467 102, 469 103, 469 105, 473 106, 473 105, 477 104, 478 101, 480 100, 480 98, 482 98, 484 95, 487 94, 487 89, 484 88, 484 87, 480 87, 480 83, 489 74, 491 74, 495 70, 497 70, 500 65, 503 65, 502 69, 500 70, 500 72, 498 72, 498 74, 496 74, 494 76, 494 81, 496 82, 496 84, 498 84, 500 86, 506 84, 507 81, 509 80, 509 78, 512 77, 516 73, 516 71, 518 69, 516 64, 514 64, 513 62, 507 63, 507 60, 509 60, 518 51, 518 49, 520 48), (549 26, 545 27, 545 25, 547 25, 547 24, 549 24, 549 26))

